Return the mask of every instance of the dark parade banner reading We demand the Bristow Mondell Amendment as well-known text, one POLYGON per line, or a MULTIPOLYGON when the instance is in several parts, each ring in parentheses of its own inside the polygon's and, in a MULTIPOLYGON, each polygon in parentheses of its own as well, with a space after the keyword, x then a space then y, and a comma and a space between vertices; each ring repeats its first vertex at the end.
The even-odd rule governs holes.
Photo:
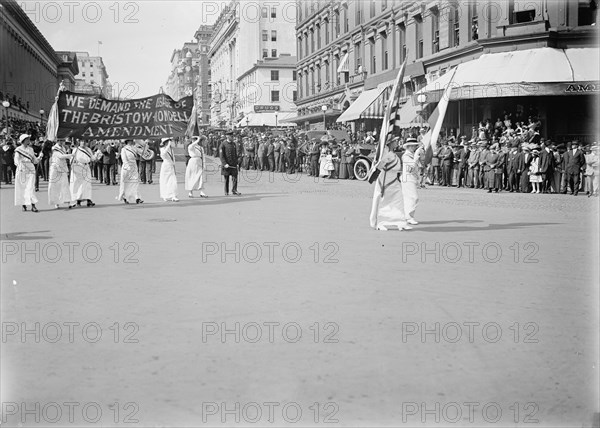
POLYGON ((58 138, 119 140, 183 136, 194 101, 174 101, 159 94, 135 100, 107 100, 100 95, 61 91, 58 138))

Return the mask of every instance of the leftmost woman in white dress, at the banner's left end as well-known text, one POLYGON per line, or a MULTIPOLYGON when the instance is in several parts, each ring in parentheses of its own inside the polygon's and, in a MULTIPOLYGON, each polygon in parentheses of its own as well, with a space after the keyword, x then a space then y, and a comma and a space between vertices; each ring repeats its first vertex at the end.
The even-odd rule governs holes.
POLYGON ((43 153, 35 156, 31 148, 31 135, 21 134, 19 147, 15 149, 15 206, 21 205, 23 211, 27 211, 27 205, 31 205, 31 211, 38 212, 38 199, 35 196, 35 165, 42 159, 43 153))

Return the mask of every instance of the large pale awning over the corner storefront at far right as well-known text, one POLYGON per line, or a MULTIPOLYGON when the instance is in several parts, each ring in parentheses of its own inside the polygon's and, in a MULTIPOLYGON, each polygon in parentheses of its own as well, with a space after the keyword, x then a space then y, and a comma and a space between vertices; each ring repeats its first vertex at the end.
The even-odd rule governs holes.
MULTIPOLYGON (((450 99, 598 92, 599 60, 597 48, 537 48, 484 54, 458 65, 450 99)), ((451 75, 444 74, 418 93, 433 95, 428 101, 439 101, 451 75)))

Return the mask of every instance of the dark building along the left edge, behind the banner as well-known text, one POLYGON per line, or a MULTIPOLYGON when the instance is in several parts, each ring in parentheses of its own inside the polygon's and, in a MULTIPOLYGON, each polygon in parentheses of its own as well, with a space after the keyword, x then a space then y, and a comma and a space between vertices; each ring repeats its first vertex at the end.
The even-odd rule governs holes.
POLYGON ((58 84, 72 89, 77 73, 73 58, 59 56, 15 0, 0 2, 0 102, 8 102, 0 119, 45 122, 58 84))

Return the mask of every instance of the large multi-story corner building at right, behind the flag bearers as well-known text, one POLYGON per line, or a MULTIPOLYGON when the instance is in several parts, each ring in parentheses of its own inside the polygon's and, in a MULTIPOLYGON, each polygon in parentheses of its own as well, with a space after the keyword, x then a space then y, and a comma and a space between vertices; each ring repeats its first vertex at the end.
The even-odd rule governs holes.
MULTIPOLYGON (((358 128, 377 128, 390 92, 387 88, 405 59, 402 96, 408 102, 401 117, 406 126, 423 120, 419 116, 421 108, 414 102, 416 97, 412 96, 415 92, 451 68, 482 55, 553 48, 564 50, 569 57, 570 49, 583 48, 587 49, 583 56, 597 61, 594 4, 576 0, 300 2, 295 120, 305 127, 322 123, 322 108, 326 106, 328 121, 340 119, 358 128)), ((533 56, 529 58, 534 61, 533 56)), ((540 72, 552 68, 541 60, 526 66, 540 72)), ((579 61, 578 67, 586 66, 579 61)), ((505 68, 493 71, 505 78, 500 74, 510 67, 505 68)), ((557 139, 589 135, 591 118, 597 117, 593 107, 598 92, 597 70, 597 64, 588 65, 586 70, 575 73, 585 75, 583 80, 587 82, 596 82, 595 86, 586 86, 586 94, 559 91, 551 96, 548 91, 540 91, 516 96, 472 94, 468 99, 453 95, 444 125, 466 133, 484 118, 495 121, 504 111, 521 109, 539 115, 546 135, 557 139), (558 120, 565 111, 573 112, 569 113, 569 120, 558 120)), ((425 111, 433 107, 427 105, 434 104, 429 101, 425 111)))

